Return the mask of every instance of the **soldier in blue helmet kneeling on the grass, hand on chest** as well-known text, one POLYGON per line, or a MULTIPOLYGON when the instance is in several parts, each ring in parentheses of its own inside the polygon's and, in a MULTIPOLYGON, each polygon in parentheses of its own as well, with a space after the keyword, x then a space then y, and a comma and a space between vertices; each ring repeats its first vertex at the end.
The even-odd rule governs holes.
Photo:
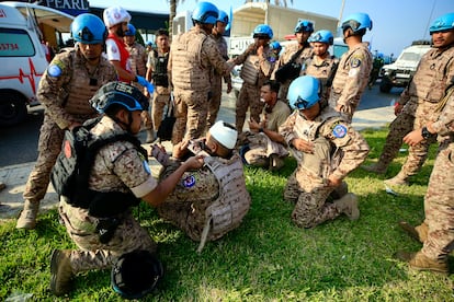
POLYGON ((360 217, 357 198, 347 193, 342 181, 364 162, 368 146, 340 113, 328 106, 322 108, 321 91, 314 77, 294 80, 288 101, 295 111, 280 127, 298 160, 285 186, 284 199, 296 204, 292 219, 302 228, 316 226, 341 213, 351 220, 360 217))

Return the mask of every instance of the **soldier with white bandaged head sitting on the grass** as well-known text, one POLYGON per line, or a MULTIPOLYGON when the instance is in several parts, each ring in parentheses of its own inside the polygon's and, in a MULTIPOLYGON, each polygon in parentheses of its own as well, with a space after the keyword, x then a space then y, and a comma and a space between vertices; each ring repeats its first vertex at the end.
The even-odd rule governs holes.
POLYGON ((173 158, 154 146, 151 155, 164 169, 167 177, 188 154, 202 154, 204 166, 185 172, 175 189, 157 210, 159 216, 182 229, 192 240, 201 242, 222 237, 236 229, 249 211, 251 198, 246 189, 241 158, 234 151, 237 130, 232 125, 217 121, 206 138, 182 141, 173 148, 173 158))

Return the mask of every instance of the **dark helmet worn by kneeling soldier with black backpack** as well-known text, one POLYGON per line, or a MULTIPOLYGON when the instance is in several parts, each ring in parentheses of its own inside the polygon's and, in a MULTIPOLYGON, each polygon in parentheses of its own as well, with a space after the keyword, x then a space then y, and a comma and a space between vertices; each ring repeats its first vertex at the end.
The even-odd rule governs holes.
POLYGON ((148 98, 137 88, 122 82, 104 84, 89 102, 101 114, 113 104, 120 104, 129 112, 148 111, 148 98))

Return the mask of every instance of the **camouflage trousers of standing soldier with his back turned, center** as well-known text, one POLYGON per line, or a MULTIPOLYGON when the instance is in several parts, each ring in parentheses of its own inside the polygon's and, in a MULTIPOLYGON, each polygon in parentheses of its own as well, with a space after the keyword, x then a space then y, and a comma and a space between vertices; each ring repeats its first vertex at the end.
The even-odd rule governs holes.
POLYGON ((208 114, 208 92, 183 91, 173 92, 174 116, 172 143, 183 140, 197 139, 205 131, 206 116, 208 114))

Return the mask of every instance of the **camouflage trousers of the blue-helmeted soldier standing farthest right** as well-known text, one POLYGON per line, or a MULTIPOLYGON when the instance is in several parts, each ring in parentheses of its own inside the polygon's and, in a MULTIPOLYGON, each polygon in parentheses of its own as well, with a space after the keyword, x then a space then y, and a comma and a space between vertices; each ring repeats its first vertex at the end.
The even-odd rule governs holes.
MULTIPOLYGON (((397 156, 402 146, 404 137, 413 129, 421 128, 425 123, 425 119, 418 119, 406 113, 399 114, 389 125, 389 132, 386 137, 378 163, 387 167, 397 156)), ((417 146, 409 147, 408 158, 401 167, 401 172, 405 175, 411 176, 418 173, 427 159, 430 144, 434 141, 435 138, 432 138, 423 140, 417 146)))

